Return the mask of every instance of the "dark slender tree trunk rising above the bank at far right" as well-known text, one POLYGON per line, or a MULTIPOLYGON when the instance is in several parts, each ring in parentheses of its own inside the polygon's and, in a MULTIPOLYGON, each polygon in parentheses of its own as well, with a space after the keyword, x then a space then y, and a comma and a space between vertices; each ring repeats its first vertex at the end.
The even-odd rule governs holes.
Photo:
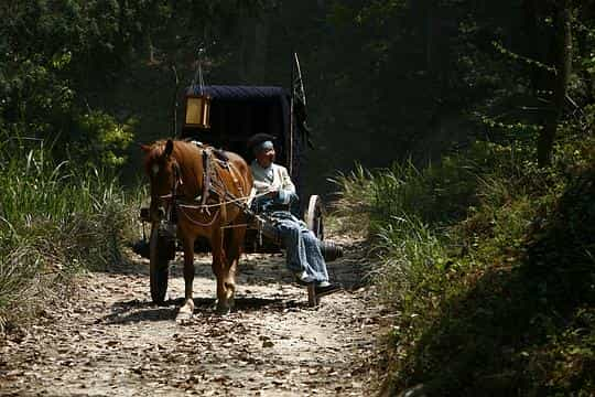
POLYGON ((552 149, 555 140, 558 124, 562 116, 564 99, 572 71, 572 31, 571 31, 570 0, 562 0, 554 15, 555 68, 553 81, 551 107, 538 138, 538 163, 548 167, 552 160, 552 149))

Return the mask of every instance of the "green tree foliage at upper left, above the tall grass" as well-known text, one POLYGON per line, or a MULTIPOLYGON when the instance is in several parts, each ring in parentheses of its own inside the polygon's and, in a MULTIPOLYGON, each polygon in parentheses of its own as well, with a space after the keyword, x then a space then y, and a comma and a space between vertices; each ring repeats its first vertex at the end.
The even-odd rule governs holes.
POLYGON ((130 143, 132 124, 120 125, 104 111, 89 110, 88 104, 83 110, 79 94, 89 76, 100 83, 99 76, 123 62, 134 34, 122 31, 120 11, 118 2, 99 1, 2 6, 7 23, 0 31, 0 131, 26 131, 53 142, 46 150, 62 159, 121 165, 118 150, 130 143))

